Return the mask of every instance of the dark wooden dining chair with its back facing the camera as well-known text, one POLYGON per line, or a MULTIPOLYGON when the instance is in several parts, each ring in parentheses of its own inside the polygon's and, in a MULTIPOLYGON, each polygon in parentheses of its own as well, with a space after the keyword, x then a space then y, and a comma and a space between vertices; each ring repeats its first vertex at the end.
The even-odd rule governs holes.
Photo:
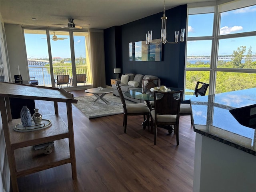
POLYGON ((182 90, 171 92, 154 91, 155 108, 150 112, 150 115, 151 130, 153 130, 153 125, 155 127, 155 145, 158 125, 173 125, 174 134, 176 134, 176 143, 179 145, 180 102, 182 92, 182 90))

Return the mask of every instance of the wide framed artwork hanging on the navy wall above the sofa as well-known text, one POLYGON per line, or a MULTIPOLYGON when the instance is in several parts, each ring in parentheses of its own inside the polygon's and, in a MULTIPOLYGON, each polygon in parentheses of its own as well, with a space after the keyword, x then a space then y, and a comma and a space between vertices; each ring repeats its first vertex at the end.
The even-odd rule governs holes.
MULTIPOLYGON (((154 39, 152 42, 160 42, 160 39, 154 39)), ((162 43, 146 45, 146 41, 130 42, 129 60, 162 61, 162 43)))

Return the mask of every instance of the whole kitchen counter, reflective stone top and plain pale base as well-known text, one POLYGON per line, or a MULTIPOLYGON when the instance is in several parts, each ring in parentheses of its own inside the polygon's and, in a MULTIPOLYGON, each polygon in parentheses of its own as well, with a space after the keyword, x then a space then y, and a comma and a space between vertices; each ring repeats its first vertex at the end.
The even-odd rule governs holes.
POLYGON ((196 132, 193 192, 256 191, 256 88, 191 98, 196 132))

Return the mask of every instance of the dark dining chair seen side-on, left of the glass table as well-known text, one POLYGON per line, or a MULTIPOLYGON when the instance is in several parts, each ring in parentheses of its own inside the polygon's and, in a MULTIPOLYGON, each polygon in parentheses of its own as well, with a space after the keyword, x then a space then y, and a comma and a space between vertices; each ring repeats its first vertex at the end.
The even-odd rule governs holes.
MULTIPOLYGON (((124 95, 122 93, 121 87, 119 84, 116 84, 116 88, 118 90, 123 110, 124 110, 124 119, 123 119, 123 126, 124 126, 124 132, 126 133, 126 127, 127 127, 127 117, 128 116, 134 116, 134 115, 145 115, 146 116, 146 121, 148 125, 148 131, 149 131, 149 114, 150 114, 150 109, 148 106, 144 103, 134 103, 134 104, 125 104, 125 99, 124 95)), ((145 120, 144 116, 144 120, 145 120)))

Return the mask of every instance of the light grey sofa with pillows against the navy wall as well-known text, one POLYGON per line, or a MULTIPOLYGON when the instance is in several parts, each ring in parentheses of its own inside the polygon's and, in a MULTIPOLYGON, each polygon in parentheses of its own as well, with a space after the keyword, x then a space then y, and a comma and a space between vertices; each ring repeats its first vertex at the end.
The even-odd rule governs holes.
MULTIPOLYGON (((127 97, 124 94, 124 92, 127 92, 128 90, 131 90, 131 89, 142 88, 142 79, 148 79, 148 78, 153 79, 153 80, 156 80, 155 84, 157 84, 157 85, 160 84, 160 79, 154 75, 142 75, 142 74, 134 74, 134 73, 129 73, 129 74, 125 74, 125 75, 129 76, 128 82, 126 79, 127 76, 126 76, 126 78, 123 78, 124 75, 122 75, 121 80, 116 81, 116 84, 120 85, 125 99, 131 100, 136 103, 143 103, 144 101, 127 97), (126 79, 126 81, 124 79, 126 79)), ((114 89, 113 95, 119 96, 116 85, 112 85, 112 88, 114 89)))

